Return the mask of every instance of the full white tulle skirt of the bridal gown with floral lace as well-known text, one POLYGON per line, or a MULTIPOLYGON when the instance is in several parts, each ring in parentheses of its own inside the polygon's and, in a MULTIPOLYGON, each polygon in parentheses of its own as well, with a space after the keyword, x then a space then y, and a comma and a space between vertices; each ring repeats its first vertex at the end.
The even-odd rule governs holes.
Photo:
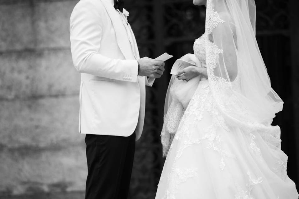
POLYGON ((297 199, 287 155, 264 132, 230 126, 200 81, 178 126, 156 199, 297 199))

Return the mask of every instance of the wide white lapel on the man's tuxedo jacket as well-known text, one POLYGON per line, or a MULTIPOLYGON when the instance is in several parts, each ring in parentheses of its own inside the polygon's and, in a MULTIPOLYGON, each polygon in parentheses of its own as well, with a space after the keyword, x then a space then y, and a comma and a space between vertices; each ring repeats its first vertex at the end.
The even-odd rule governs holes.
MULTIPOLYGON (((119 14, 115 11, 115 8, 111 5, 110 2, 107 2, 105 0, 101 0, 114 27, 115 34, 116 34, 116 39, 117 39, 117 44, 119 48, 121 49, 122 54, 126 59, 132 59, 131 56, 131 49, 128 49, 128 46, 126 41, 128 38, 126 37, 126 34, 124 34, 123 29, 124 28, 121 20, 119 19, 119 14)), ((125 30, 126 31, 126 30, 125 30)), ((125 32, 126 33, 126 32, 125 32)))

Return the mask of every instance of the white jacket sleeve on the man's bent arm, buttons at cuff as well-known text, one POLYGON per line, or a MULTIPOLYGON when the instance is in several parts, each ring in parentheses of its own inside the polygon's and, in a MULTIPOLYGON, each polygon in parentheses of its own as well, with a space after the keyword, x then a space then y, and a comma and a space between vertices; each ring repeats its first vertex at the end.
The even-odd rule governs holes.
POLYGON ((99 54, 103 12, 106 10, 101 4, 92 1, 80 1, 75 6, 70 17, 70 42, 74 67, 81 73, 137 82, 136 60, 112 59, 99 54))

